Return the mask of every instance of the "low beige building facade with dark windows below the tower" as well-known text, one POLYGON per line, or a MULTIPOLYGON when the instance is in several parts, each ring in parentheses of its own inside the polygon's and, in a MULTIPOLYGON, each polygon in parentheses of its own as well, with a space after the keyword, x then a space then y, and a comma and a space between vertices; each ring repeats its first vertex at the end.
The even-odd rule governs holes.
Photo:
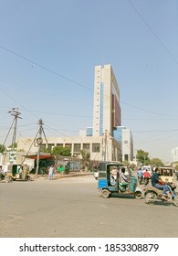
MULTIPOLYGON (((34 138, 20 138, 18 143, 18 151, 21 155, 29 151, 30 154, 37 153, 38 144, 34 138)), ((86 149, 90 152, 90 160, 120 160, 120 144, 115 141, 110 134, 107 137, 99 136, 75 136, 75 137, 47 137, 47 142, 40 145, 41 151, 45 149, 52 149, 55 146, 68 146, 70 148, 71 156, 80 158, 80 150, 86 149)))

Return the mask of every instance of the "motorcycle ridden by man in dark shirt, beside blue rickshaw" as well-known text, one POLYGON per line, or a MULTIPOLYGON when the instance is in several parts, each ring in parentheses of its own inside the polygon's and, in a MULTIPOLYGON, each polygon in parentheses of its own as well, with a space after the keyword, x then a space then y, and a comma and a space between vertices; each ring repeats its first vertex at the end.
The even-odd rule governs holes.
POLYGON ((162 190, 152 187, 152 186, 146 186, 144 197, 147 204, 149 203, 155 203, 155 202, 171 202, 174 204, 174 206, 178 207, 178 193, 175 192, 175 186, 173 184, 167 184, 167 198, 162 197, 162 190), (171 187, 172 189, 170 189, 171 187))

